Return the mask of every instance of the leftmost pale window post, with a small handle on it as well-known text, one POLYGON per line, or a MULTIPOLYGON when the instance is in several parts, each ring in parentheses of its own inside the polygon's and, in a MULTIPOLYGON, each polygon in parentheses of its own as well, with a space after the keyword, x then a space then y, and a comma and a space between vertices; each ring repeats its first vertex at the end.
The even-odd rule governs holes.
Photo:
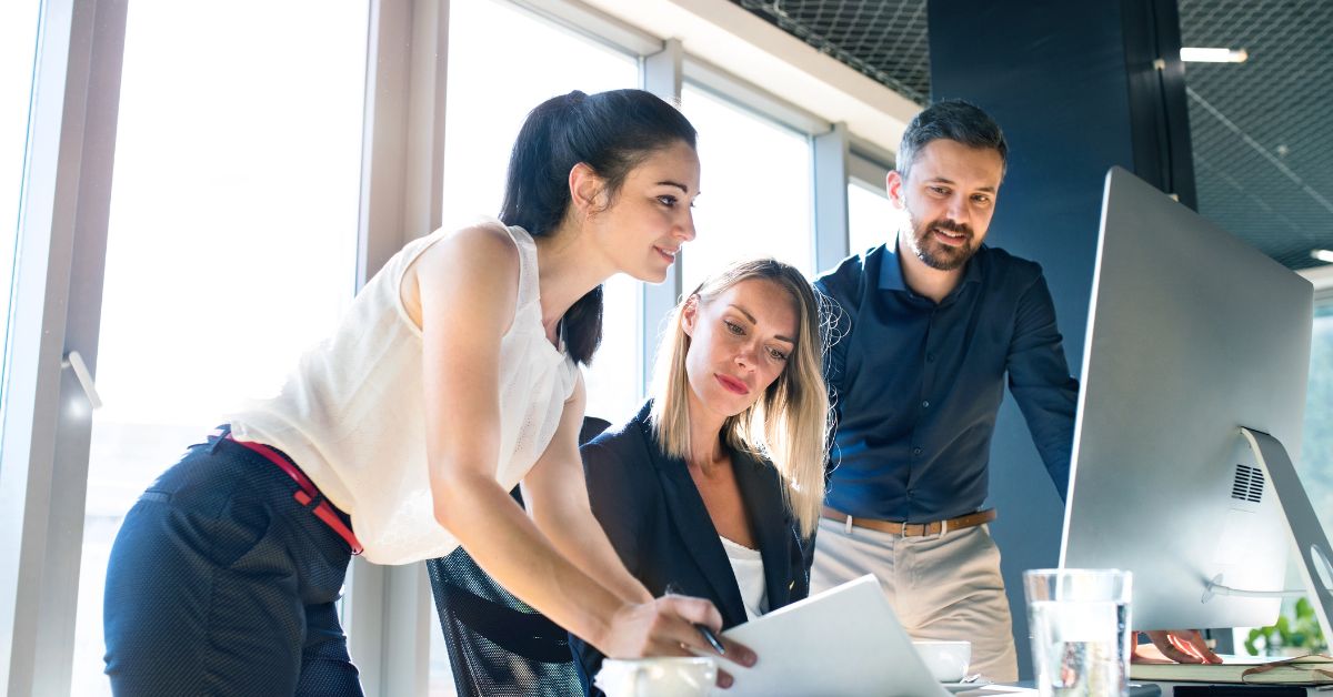
POLYGON ((127 0, 40 9, 0 450, 0 685, 68 694, 127 0))

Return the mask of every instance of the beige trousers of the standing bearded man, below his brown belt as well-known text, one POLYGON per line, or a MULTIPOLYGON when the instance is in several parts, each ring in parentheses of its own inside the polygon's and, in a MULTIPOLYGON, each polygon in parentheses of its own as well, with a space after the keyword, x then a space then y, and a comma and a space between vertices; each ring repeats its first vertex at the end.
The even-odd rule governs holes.
POLYGON ((852 528, 824 518, 810 594, 873 573, 904 629, 918 640, 972 642, 969 673, 1018 680, 1000 549, 988 525, 926 537, 852 528))

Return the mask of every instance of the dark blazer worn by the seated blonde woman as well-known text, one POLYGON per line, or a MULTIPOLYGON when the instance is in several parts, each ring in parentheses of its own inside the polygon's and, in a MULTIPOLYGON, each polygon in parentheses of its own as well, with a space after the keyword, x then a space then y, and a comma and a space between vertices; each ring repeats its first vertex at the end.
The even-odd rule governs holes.
MULTIPOLYGON (((653 596, 708 598, 729 629, 745 622, 745 606, 726 550, 685 461, 663 453, 648 416, 652 401, 616 430, 583 446, 588 497, 625 568, 653 596)), ((806 540, 782 502, 781 480, 769 462, 732 452, 732 466, 768 580, 768 609, 810 592, 806 540)), ((571 637, 585 693, 601 668, 597 649, 571 637)))

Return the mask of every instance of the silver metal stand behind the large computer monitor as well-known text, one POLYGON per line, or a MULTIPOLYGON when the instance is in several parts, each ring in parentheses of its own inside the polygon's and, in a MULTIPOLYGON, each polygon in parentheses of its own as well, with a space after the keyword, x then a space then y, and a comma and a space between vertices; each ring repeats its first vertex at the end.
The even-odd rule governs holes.
MULTIPOLYGON (((1318 516, 1314 514, 1310 497, 1296 476, 1296 468, 1292 465, 1292 458, 1286 456, 1286 448, 1282 448, 1277 438, 1244 426, 1240 429, 1240 438, 1242 445, 1237 448, 1237 453, 1242 458, 1241 464, 1262 470, 1273 485, 1273 492, 1277 493, 1278 506, 1286 518, 1286 530, 1301 557, 1298 566, 1310 597, 1310 605, 1314 608, 1314 616, 1320 618, 1324 640, 1333 644, 1333 626, 1329 625, 1329 618, 1333 617, 1333 562, 1330 562, 1333 548, 1329 546, 1328 536, 1324 534, 1318 516)), ((1221 582, 1224 582, 1221 577, 1214 577, 1206 584, 1204 602, 1208 602, 1213 594, 1268 597, 1292 594, 1282 590, 1268 593, 1237 590, 1218 585, 1221 582)))

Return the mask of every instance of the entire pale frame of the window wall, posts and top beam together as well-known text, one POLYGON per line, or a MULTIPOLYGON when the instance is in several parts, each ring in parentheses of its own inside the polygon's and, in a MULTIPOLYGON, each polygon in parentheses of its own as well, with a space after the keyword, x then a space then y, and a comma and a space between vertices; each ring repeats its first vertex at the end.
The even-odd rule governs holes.
MULTIPOLYGON (((11 299, 12 345, 0 442, 0 685, 12 694, 68 694, 83 545, 91 425, 72 370, 77 350, 96 377, 125 19, 129 0, 45 0, 35 71, 11 299), (59 485, 57 485, 59 482, 59 485)), ((805 133, 814 191, 817 269, 846 253, 846 183, 866 141, 816 113, 577 0, 495 0, 640 57, 640 85, 678 103, 684 80, 805 133)), ((443 216, 448 0, 369 3, 357 285, 443 216)), ((870 147, 873 151, 873 145, 870 147)), ((881 151, 882 152, 882 151, 881 151)), ((663 319, 682 288, 680 267, 640 296, 639 382, 647 393, 663 319)), ((435 629, 424 565, 357 560, 345 625, 367 694, 425 694, 435 629)))

